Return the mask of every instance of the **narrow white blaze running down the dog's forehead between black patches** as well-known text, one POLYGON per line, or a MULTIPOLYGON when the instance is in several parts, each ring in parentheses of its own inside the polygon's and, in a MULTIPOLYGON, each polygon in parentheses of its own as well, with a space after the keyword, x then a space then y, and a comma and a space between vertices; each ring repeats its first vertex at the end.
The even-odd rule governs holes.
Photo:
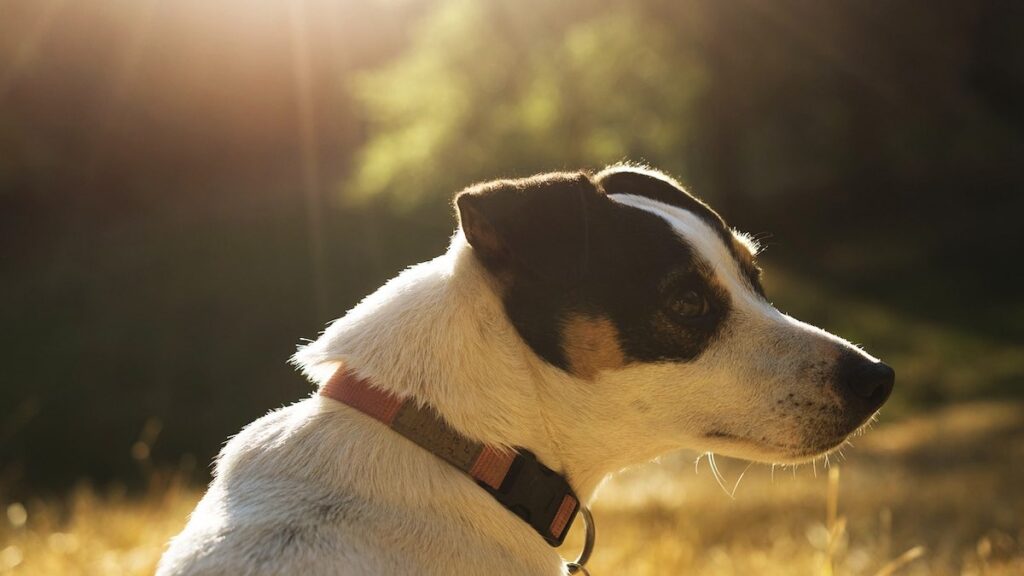
POLYGON ((733 297, 741 298, 757 307, 764 304, 742 279, 739 262, 736 261, 732 251, 703 218, 684 208, 658 202, 645 196, 610 194, 608 198, 625 206, 650 212, 669 222, 676 234, 711 264, 719 281, 728 288, 733 297))

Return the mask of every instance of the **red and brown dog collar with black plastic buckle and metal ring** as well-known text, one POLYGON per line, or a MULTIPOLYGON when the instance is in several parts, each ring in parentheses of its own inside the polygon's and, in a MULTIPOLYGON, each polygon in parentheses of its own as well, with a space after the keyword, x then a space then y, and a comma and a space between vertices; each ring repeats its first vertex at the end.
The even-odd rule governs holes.
MULTIPOLYGON (((474 442, 453 429, 433 408, 374 387, 344 367, 321 387, 319 394, 383 422, 466 472, 552 546, 561 545, 565 539, 580 511, 580 500, 564 478, 529 451, 508 451, 474 442)), ((593 522, 586 508, 584 517, 587 544, 580 560, 569 565, 572 573, 584 570, 583 564, 593 547, 593 522)))

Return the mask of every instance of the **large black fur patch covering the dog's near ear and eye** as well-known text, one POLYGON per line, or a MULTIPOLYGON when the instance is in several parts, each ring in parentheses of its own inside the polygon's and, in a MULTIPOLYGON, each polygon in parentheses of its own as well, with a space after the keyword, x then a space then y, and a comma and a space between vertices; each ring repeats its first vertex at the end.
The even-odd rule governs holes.
POLYGON ((456 202, 512 324, 562 369, 569 370, 563 332, 572 318, 608 319, 627 362, 685 362, 729 317, 729 295, 710 264, 665 219, 612 201, 587 174, 500 180, 456 202), (706 314, 679 312, 690 291, 708 302, 706 314))

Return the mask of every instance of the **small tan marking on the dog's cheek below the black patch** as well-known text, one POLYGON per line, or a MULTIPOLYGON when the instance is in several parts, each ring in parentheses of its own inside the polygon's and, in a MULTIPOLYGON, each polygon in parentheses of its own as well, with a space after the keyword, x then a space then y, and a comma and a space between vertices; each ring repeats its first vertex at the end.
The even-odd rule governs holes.
POLYGON ((601 370, 626 365, 618 330, 604 317, 570 317, 562 328, 562 352, 572 373, 587 380, 601 370))

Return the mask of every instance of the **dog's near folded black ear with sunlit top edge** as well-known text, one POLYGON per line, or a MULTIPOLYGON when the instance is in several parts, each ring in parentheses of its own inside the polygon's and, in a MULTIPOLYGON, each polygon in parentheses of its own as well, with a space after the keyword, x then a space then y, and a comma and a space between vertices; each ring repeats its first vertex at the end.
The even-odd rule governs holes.
POLYGON ((496 180, 456 196, 459 221, 499 279, 578 278, 586 271, 591 218, 608 200, 588 174, 496 180))

